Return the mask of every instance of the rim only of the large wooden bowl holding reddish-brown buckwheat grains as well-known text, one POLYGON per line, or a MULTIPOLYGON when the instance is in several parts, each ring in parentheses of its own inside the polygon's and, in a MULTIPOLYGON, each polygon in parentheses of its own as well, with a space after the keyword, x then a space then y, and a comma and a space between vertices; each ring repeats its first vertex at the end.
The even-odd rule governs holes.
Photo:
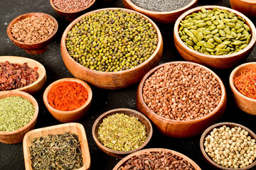
POLYGON ((196 123, 196 122, 199 122, 201 120, 205 120, 207 118, 210 118, 212 115, 217 113, 217 111, 221 108, 221 106, 225 102, 225 98, 226 98, 225 97, 226 96, 225 86, 223 84, 223 81, 220 79, 220 77, 218 77, 217 74, 215 74, 215 72, 213 72, 211 69, 209 69, 208 67, 205 67, 205 66, 203 66, 201 64, 198 64, 198 63, 195 63, 195 62, 186 62, 186 61, 166 62, 164 64, 161 64, 161 65, 151 69, 149 72, 147 72, 144 75, 144 77, 142 78, 142 81, 140 81, 139 87, 137 89, 137 94, 139 94, 139 98, 142 98, 142 103, 141 103, 142 107, 146 108, 146 110, 149 111, 150 115, 154 115, 154 117, 156 117, 157 119, 159 119, 161 121, 164 121, 166 123, 196 123), (154 111, 151 111, 151 109, 146 105, 146 103, 144 102, 144 99, 142 98, 142 89, 143 89, 143 86, 144 86, 144 83, 145 83, 146 79, 148 79, 151 76, 151 74, 156 72, 157 69, 160 69, 161 67, 164 67, 164 65, 166 65, 166 64, 194 64, 194 65, 197 65, 199 67, 202 67, 203 69, 206 69, 208 72, 213 74, 213 77, 215 77, 215 79, 217 79, 218 83, 220 84, 221 96, 220 96, 220 101, 218 103, 218 106, 216 106, 213 109, 213 111, 211 111, 208 115, 205 115, 202 118, 197 118, 197 119, 193 119, 193 120, 173 120, 173 119, 168 119, 168 118, 164 118, 163 116, 154 113, 154 111))

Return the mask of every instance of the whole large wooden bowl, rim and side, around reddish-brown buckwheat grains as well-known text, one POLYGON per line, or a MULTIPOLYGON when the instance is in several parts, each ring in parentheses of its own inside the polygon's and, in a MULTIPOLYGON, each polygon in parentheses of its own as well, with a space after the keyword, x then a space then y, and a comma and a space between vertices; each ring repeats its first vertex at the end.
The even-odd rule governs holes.
POLYGON ((201 134, 201 132, 203 132, 203 130, 208 128, 209 125, 212 125, 216 120, 218 120, 223 115, 225 111, 225 106, 227 104, 227 95, 225 92, 225 86, 217 74, 215 74, 213 71, 211 71, 207 67, 202 66, 201 64, 196 64, 193 62, 167 62, 165 64, 161 64, 158 67, 151 69, 142 78, 142 81, 139 83, 139 86, 137 89, 137 98, 136 98, 137 108, 140 112, 144 113, 144 115, 146 115, 146 117, 149 118, 154 123, 154 125, 156 125, 156 128, 158 128, 159 131, 164 135, 167 135, 170 137, 178 137, 178 138, 193 137, 193 136, 199 135, 201 134), (146 79, 148 79, 151 76, 151 74, 153 74, 157 69, 164 67, 165 64, 176 64, 176 63, 195 64, 197 66, 203 67, 203 69, 206 69, 208 70, 208 72, 213 74, 213 77, 215 77, 215 79, 217 79, 218 82, 220 83, 220 91, 221 91, 220 103, 218 103, 218 106, 208 115, 195 120, 171 120, 154 113, 154 111, 151 111, 151 109, 148 106, 146 106, 146 103, 144 102, 144 99, 142 97, 142 89, 146 79))

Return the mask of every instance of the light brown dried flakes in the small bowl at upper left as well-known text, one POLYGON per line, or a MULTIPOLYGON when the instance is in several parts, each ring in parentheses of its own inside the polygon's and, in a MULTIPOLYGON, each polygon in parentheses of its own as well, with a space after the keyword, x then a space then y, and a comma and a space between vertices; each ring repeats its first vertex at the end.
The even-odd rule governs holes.
POLYGON ((11 35, 24 43, 41 42, 53 34, 55 23, 46 16, 31 16, 11 27, 11 35))

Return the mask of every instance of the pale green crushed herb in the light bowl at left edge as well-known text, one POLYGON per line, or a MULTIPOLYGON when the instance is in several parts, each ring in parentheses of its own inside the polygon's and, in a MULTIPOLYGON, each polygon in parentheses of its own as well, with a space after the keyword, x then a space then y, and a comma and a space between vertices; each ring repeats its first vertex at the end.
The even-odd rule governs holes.
POLYGON ((21 96, 0 100, 0 131, 23 128, 33 118, 35 108, 31 101, 21 96))

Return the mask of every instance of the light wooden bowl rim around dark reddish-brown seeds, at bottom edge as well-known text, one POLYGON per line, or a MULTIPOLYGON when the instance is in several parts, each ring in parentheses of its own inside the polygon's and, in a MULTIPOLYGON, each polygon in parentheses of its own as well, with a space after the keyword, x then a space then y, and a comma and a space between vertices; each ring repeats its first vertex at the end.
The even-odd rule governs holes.
POLYGON ((117 163, 117 165, 114 166, 114 169, 113 169, 113 170, 118 170, 120 166, 124 166, 125 163, 126 163, 130 158, 132 158, 132 157, 134 157, 134 156, 139 156, 139 155, 142 155, 142 154, 145 154, 145 153, 148 153, 148 152, 169 152, 169 153, 171 153, 171 154, 175 154, 175 155, 177 155, 178 157, 182 157, 182 158, 185 159, 187 162, 189 162, 189 163, 193 166, 193 168, 194 168, 195 170, 201 170, 201 168, 200 168, 195 162, 193 162, 192 159, 186 157, 186 155, 181 154, 181 153, 176 152, 176 151, 171 150, 171 149, 162 149, 162 148, 143 149, 143 150, 140 150, 140 151, 135 152, 135 153, 133 153, 133 154, 129 154, 127 157, 124 157, 121 161, 119 161, 119 162, 117 163))

